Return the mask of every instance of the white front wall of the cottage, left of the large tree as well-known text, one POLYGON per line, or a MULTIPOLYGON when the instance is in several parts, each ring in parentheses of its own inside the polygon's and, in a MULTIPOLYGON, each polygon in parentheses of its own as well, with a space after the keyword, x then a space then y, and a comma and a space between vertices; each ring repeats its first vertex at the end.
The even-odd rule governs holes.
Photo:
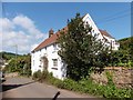
MULTIPOLYGON (((58 46, 57 46, 58 47, 58 46)), ((63 79, 65 78, 65 67, 64 63, 62 63, 62 60, 60 56, 58 54, 58 49, 54 49, 53 44, 50 44, 39 51, 32 52, 31 53, 31 70, 32 74, 33 72, 38 70, 43 70, 43 63, 40 61, 41 57, 45 56, 49 60, 48 62, 48 71, 53 73, 53 77, 63 79), (52 69, 53 68, 53 60, 52 59, 58 59, 58 70, 52 69)))

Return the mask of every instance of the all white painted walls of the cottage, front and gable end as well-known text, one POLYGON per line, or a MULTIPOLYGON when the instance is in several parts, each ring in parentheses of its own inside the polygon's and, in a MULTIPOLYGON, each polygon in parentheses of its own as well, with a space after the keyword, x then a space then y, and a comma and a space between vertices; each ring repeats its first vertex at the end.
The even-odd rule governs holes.
MULTIPOLYGON (((95 33, 100 33, 99 34, 99 39, 103 39, 103 36, 101 34, 101 32, 99 31, 98 27, 95 26, 95 23, 93 22, 92 18, 90 17, 90 14, 86 14, 83 18, 84 22, 88 22, 89 24, 91 24, 92 29, 93 29, 93 34, 95 33)), ((114 50, 119 49, 119 44, 115 44, 115 39, 105 37, 109 40, 109 43, 106 43, 106 46, 110 46, 111 42, 112 47, 114 47, 114 50)), ((54 49, 53 44, 50 44, 39 51, 32 52, 31 53, 31 70, 32 70, 32 74, 33 72, 38 71, 38 70, 43 70, 43 63, 41 62, 41 57, 45 56, 49 60, 48 63, 48 71, 53 73, 53 77, 59 78, 59 79, 64 79, 66 76, 66 64, 64 64, 60 58, 60 56, 58 54, 59 51, 59 47, 57 46, 57 49, 54 49), (58 70, 52 69, 53 68, 53 61, 52 59, 58 59, 58 70)))

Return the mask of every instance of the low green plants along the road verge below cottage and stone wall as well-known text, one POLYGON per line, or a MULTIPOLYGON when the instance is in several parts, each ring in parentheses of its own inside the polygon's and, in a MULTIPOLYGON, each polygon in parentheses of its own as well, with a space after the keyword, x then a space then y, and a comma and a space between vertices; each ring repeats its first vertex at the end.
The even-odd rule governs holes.
MULTIPOLYGON (((47 71, 44 71, 47 72, 47 71)), ((38 71, 34 72, 34 79, 41 78, 43 72, 38 71)), ((94 96, 100 96, 103 98, 133 98, 131 92, 132 89, 119 89, 112 83, 112 74, 106 72, 109 78, 109 84, 101 86, 93 82, 91 79, 82 79, 80 81, 74 81, 72 79, 64 79, 59 80, 52 77, 52 73, 48 73, 45 79, 40 79, 39 81, 43 80, 44 82, 51 83, 61 89, 68 89, 81 93, 90 93, 94 96)), ((42 81, 41 81, 42 82, 42 81)))

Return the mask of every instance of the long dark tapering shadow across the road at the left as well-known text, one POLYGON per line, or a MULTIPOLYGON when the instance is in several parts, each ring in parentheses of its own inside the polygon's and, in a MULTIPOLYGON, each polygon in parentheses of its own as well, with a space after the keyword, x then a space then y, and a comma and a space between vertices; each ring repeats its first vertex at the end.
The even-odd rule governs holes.
POLYGON ((37 82, 37 81, 31 81, 31 82, 28 82, 28 83, 24 83, 24 84, 2 84, 2 92, 14 89, 14 88, 23 87, 23 86, 27 86, 27 84, 31 84, 31 83, 34 83, 34 82, 37 82))

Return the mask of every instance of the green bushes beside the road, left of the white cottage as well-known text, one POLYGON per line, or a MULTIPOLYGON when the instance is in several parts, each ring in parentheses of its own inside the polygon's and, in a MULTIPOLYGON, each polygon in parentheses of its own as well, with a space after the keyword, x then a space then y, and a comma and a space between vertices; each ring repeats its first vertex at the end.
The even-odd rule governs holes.
POLYGON ((19 72, 22 76, 31 74, 31 57, 30 54, 10 59, 9 64, 6 67, 8 72, 19 72))

